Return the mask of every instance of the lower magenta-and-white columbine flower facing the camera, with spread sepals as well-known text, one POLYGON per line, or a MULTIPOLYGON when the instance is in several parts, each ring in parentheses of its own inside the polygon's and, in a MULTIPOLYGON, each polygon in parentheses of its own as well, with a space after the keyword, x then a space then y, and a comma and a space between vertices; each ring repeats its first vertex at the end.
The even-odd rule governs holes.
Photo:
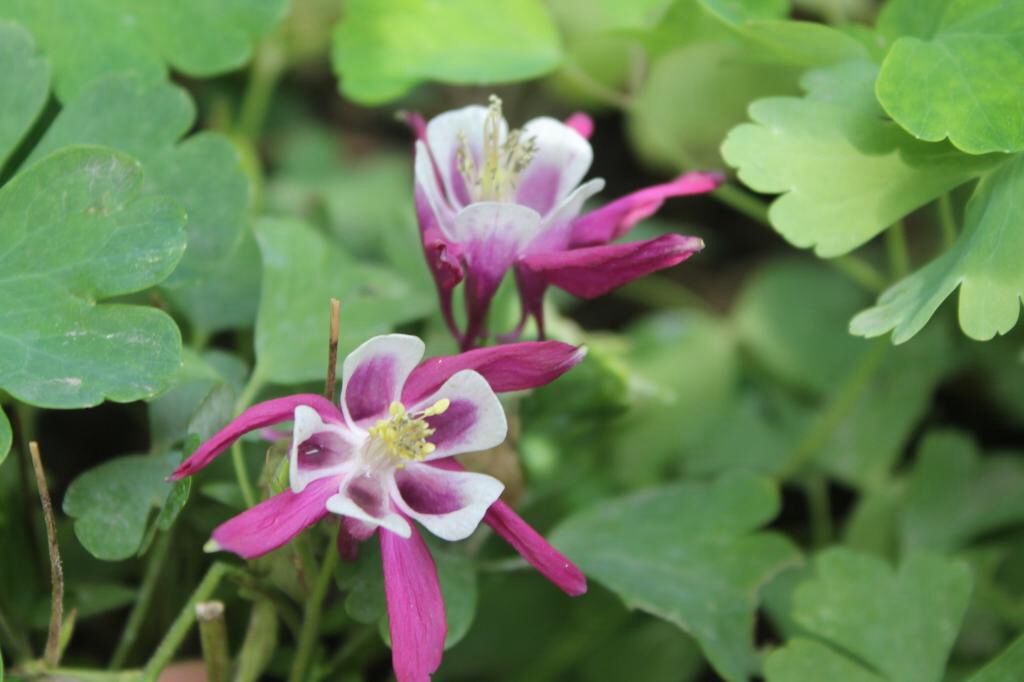
POLYGON ((498 498, 496 478, 462 470, 453 455, 495 447, 507 424, 495 391, 544 385, 583 357, 556 341, 495 346, 421 363, 423 342, 392 334, 345 358, 341 407, 314 394, 254 404, 172 474, 188 476, 243 434, 294 422, 291 489, 213 531, 211 550, 251 559, 281 547, 328 512, 341 515, 339 551, 380 530, 392 659, 399 682, 428 680, 446 624, 437 571, 412 520, 444 540, 481 520, 569 595, 583 573, 498 498))

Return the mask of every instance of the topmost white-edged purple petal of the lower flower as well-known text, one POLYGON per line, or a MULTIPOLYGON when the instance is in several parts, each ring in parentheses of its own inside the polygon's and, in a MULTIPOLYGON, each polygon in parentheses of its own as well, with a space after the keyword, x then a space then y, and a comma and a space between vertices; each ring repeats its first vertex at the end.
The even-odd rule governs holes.
POLYGON ((342 365, 341 407, 352 424, 387 416, 413 368, 423 358, 423 341, 408 334, 375 336, 342 365))

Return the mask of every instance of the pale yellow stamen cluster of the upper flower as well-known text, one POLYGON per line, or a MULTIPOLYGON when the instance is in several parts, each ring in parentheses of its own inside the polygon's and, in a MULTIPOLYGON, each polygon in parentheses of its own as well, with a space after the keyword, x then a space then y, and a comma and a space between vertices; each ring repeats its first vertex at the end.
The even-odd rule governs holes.
POLYGON ((466 135, 459 132, 456 160, 459 174, 473 201, 510 201, 515 196, 519 176, 537 156, 537 138, 523 138, 518 128, 510 130, 502 141, 502 100, 490 95, 487 116, 483 119, 483 159, 477 165, 470 153, 466 135))

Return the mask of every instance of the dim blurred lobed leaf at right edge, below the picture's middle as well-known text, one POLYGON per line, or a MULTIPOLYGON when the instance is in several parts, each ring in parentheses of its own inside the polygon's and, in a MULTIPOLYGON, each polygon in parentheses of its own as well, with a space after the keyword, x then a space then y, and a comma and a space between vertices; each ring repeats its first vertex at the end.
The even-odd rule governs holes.
POLYGON ((955 431, 930 433, 907 483, 905 549, 951 552, 971 540, 1024 522, 1024 465, 1018 455, 981 459, 955 431))

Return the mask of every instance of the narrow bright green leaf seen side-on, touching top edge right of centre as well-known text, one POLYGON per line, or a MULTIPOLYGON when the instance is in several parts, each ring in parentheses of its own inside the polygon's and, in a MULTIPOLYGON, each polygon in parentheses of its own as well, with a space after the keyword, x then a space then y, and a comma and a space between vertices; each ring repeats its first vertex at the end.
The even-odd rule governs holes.
POLYGON ((758 48, 766 59, 820 67, 867 56, 857 40, 831 27, 781 18, 784 0, 699 0, 713 16, 758 48))

